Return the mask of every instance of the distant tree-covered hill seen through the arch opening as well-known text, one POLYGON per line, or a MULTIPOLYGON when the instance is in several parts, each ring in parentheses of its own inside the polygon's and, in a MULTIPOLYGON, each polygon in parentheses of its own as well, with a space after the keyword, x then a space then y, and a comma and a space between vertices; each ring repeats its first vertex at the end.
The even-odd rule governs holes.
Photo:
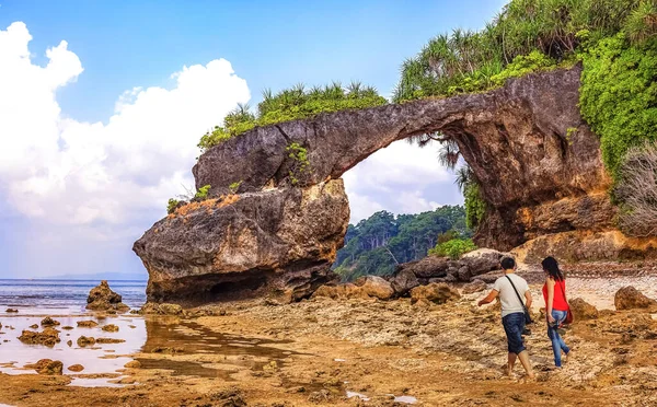
POLYGON ((397 264, 427 256, 443 241, 468 240, 471 235, 461 206, 396 217, 380 211, 356 225, 349 224, 345 247, 337 252, 333 268, 345 281, 365 275, 385 276, 397 264))

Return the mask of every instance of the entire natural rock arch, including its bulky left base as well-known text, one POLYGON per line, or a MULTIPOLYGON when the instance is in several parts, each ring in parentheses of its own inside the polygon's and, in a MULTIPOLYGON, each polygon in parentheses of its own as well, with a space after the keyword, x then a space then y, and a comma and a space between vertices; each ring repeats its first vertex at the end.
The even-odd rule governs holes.
POLYGON ((575 67, 487 93, 322 114, 214 147, 193 168, 197 188, 211 185, 214 198, 178 209, 135 243, 149 300, 308 296, 334 278, 349 220, 341 176, 393 141, 427 132, 453 139, 481 182, 489 209, 480 245, 506 251, 542 235, 612 230, 610 178, 579 115, 579 75, 575 67), (303 187, 291 186, 292 143, 308 151, 303 187), (234 183, 239 195, 226 198, 234 183))

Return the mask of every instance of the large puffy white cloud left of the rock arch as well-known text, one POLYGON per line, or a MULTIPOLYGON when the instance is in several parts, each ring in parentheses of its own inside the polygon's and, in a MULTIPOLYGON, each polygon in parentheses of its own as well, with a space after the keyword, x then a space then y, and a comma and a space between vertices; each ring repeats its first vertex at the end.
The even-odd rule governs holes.
POLYGON ((174 89, 126 91, 106 125, 80 123, 56 101, 83 72, 80 59, 62 40, 36 66, 31 39, 21 22, 0 31, 0 188, 20 212, 50 223, 120 225, 143 210, 162 214, 181 185, 193 185, 200 136, 250 98, 246 81, 218 59, 173 73, 174 89))

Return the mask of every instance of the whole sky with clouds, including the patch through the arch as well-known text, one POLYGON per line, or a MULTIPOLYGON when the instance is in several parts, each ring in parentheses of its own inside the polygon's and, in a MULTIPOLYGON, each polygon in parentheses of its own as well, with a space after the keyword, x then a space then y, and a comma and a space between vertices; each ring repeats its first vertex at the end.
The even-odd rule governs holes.
MULTIPOLYGON (((140 272, 131 243, 235 103, 332 80, 389 95, 428 38, 503 3, 0 0, 0 277, 140 272)), ((348 173, 355 220, 459 202, 435 155, 396 144, 348 173)))

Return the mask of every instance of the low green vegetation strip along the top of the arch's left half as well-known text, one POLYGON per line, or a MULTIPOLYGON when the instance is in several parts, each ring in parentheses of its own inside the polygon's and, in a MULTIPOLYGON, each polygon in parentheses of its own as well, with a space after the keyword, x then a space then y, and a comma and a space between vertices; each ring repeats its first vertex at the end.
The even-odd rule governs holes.
POLYGON ((346 88, 343 88, 339 82, 311 89, 298 84, 277 94, 266 90, 263 92, 263 101, 257 105, 257 115, 251 113, 249 105, 238 105, 226 116, 223 126, 217 126, 201 137, 198 147, 205 152, 212 146, 256 126, 276 125, 313 117, 321 113, 374 107, 387 103, 388 101, 380 96, 374 88, 364 86, 360 82, 353 82, 346 88))

